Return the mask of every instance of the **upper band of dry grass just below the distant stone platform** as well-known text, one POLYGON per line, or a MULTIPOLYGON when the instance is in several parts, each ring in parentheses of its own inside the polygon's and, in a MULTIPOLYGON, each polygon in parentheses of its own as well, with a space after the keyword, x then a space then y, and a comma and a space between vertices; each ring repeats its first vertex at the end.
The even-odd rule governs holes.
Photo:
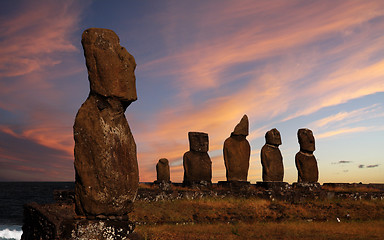
POLYGON ((254 198, 138 201, 130 216, 139 224, 334 221, 336 218, 370 221, 384 219, 384 202, 333 200, 291 204, 254 198))

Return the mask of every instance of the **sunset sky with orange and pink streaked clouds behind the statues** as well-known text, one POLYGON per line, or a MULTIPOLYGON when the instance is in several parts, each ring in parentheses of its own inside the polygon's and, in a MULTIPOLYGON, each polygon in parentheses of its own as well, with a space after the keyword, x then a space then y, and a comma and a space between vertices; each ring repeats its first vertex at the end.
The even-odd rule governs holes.
POLYGON ((226 180, 223 143, 247 114, 251 183, 272 128, 286 182, 309 128, 320 183, 384 183, 381 0, 0 1, 0 181, 74 181, 91 27, 115 31, 137 63, 126 117, 141 182, 160 158, 182 181, 189 131, 208 133, 212 182, 226 180))

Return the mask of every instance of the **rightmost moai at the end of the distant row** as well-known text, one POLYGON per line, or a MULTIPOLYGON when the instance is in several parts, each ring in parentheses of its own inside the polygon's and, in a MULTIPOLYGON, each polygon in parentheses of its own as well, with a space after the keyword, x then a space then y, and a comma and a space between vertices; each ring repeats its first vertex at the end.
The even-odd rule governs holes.
POLYGON ((316 183, 319 179, 315 151, 315 138, 311 130, 302 128, 297 132, 300 151, 296 154, 295 163, 298 171, 297 182, 316 183))

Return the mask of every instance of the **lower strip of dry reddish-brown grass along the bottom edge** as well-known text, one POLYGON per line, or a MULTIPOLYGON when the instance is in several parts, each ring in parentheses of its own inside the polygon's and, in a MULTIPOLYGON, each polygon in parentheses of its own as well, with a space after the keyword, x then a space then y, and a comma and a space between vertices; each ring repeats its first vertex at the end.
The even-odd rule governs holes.
POLYGON ((137 227, 145 239, 383 239, 384 221, 160 225, 137 227))

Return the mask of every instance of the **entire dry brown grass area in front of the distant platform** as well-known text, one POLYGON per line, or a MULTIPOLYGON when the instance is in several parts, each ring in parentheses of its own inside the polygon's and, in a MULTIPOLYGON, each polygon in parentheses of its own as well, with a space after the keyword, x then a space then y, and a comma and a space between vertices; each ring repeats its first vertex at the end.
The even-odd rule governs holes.
MULTIPOLYGON (((188 188, 172 187, 173 190, 188 188)), ((333 189, 369 192, 372 189, 333 189)), ((376 190, 373 190, 376 191, 376 190)), ((145 239, 384 239, 384 201, 244 197, 137 201, 131 220, 145 239)))

